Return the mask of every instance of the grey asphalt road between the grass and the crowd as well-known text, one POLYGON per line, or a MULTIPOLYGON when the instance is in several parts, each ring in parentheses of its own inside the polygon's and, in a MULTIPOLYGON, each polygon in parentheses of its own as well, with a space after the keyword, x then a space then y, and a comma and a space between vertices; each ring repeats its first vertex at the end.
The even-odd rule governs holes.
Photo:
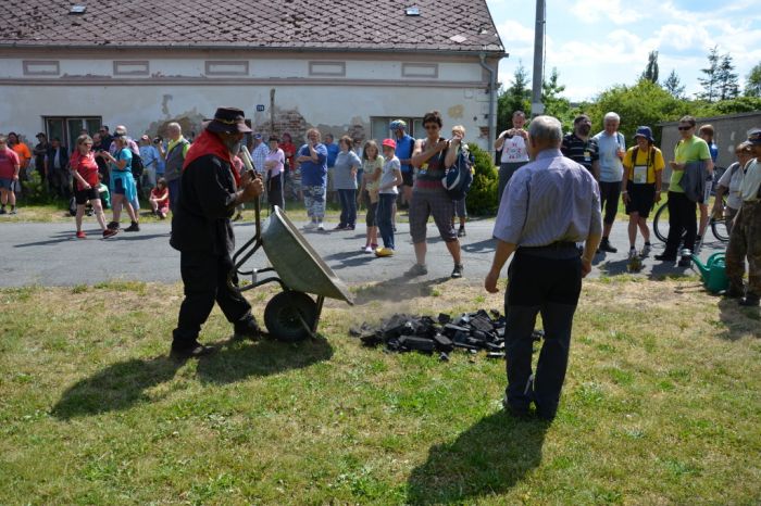
MULTIPOLYGON (((71 224, 0 222, 0 286, 74 286, 120 279, 179 281, 179 253, 169 244, 167 222, 145 224, 140 232, 120 232, 115 238, 102 240, 93 218, 88 219, 85 223, 88 238, 85 240, 74 237, 73 219, 71 224)), ((467 237, 462 240, 466 282, 481 283, 491 265, 495 249, 492 227, 492 219, 467 224, 467 237)), ((625 228, 624 223, 615 224, 611 242, 619 248, 619 253, 598 254, 592 277, 626 271, 628 241, 625 228)), ((250 239, 253 231, 250 223, 236 224, 238 244, 250 239)), ((399 225, 396 255, 387 258, 376 258, 360 251, 364 245, 364 225, 354 231, 304 231, 303 235, 336 275, 348 283, 400 278, 414 263, 407 224, 399 225)), ((420 280, 448 278, 452 261, 433 224, 428 225, 428 275, 420 280)), ((709 238, 700 255, 703 258, 724 248, 710 232, 709 238)), ((652 254, 656 254, 662 251, 663 244, 654 236, 653 241, 652 254)), ((249 265, 255 268, 267 266, 264 252, 260 250, 249 265)), ((650 257, 645 260, 640 276, 659 277, 686 271, 689 269, 665 265, 650 257)))

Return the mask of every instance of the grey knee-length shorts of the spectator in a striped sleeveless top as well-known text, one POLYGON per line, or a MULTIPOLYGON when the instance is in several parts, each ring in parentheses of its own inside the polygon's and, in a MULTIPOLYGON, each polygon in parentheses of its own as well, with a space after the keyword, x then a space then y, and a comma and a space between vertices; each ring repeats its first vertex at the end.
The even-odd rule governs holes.
POLYGON ((414 244, 425 242, 428 217, 433 215, 439 235, 445 242, 457 241, 457 231, 452 226, 454 203, 444 187, 434 191, 412 191, 410 203, 410 236, 414 244))

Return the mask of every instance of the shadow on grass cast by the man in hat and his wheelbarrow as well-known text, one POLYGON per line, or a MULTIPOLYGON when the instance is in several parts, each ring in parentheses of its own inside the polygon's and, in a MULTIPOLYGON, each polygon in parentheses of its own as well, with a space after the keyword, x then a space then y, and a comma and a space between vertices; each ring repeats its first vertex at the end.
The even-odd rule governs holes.
MULTIPOLYGON (((216 353, 198 362, 197 375, 201 382, 232 383, 251 376, 308 367, 333 356, 333 347, 324 339, 297 344, 228 340, 216 345, 221 346, 216 353)), ((57 418, 71 419, 153 402, 155 396, 148 395, 146 390, 172 380, 184 364, 169 356, 113 364, 66 390, 51 413, 57 418)))

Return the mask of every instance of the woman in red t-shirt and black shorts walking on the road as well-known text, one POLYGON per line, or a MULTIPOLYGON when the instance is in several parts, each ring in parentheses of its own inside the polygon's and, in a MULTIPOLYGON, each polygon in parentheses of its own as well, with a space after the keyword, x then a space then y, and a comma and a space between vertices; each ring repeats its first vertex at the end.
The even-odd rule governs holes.
POLYGON ((103 239, 115 236, 117 230, 112 230, 105 227, 105 218, 103 217, 103 206, 100 203, 100 193, 98 187, 100 180, 98 178, 98 163, 95 160, 92 152, 92 139, 88 135, 77 137, 76 149, 70 159, 70 167, 72 176, 74 176, 74 198, 76 199, 76 237, 85 239, 87 235, 82 229, 82 217, 85 214, 87 201, 92 204, 98 225, 102 230, 103 239))

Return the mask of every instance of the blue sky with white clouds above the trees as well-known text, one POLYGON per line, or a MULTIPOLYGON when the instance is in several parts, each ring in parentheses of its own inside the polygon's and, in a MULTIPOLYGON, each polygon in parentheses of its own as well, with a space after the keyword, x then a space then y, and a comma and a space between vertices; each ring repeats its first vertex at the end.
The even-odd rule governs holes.
MULTIPOLYGON (((486 0, 506 51, 499 80, 509 87, 519 62, 533 75, 536 1, 486 0)), ((558 68, 565 98, 594 100, 613 85, 634 85, 657 50, 659 80, 676 71, 688 97, 714 46, 728 53, 740 90, 761 63, 760 0, 546 0, 545 74, 558 68), (726 3, 721 7, 722 3, 726 3)))

